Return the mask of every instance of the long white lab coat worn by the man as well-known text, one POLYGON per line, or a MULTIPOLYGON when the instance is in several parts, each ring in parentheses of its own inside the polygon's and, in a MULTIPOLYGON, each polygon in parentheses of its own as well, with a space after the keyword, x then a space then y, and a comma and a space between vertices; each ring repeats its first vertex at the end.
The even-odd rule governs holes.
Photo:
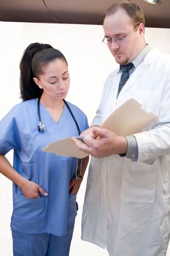
MULTIPOLYGON (((116 99, 120 75, 107 79, 96 123, 134 98, 158 120, 135 135, 139 158, 92 158, 82 240, 110 256, 164 256, 170 233, 170 56, 151 50, 116 99)), ((131 114, 131 113, 129 113, 131 114)))

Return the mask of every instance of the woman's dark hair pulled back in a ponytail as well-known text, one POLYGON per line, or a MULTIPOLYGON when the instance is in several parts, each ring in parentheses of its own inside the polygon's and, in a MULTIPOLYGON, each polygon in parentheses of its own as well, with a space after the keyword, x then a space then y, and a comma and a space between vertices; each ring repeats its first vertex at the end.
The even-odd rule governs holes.
POLYGON ((20 61, 20 97, 23 101, 41 97, 43 90, 39 89, 33 78, 39 78, 43 74, 43 67, 55 59, 66 61, 63 53, 51 45, 39 42, 28 45, 20 61))

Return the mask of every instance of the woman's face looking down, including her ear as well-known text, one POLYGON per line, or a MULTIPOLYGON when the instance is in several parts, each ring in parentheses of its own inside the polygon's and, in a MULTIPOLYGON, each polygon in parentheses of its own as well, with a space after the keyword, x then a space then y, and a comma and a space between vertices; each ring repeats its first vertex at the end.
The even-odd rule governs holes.
POLYGON ((34 78, 34 82, 43 89, 45 97, 50 99, 64 99, 69 91, 69 71, 64 59, 55 59, 43 69, 43 75, 34 78))

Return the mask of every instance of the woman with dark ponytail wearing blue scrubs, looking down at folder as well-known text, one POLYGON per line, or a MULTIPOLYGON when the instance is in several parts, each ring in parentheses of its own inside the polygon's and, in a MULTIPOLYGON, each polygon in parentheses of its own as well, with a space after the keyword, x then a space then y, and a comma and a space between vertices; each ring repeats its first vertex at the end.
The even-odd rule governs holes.
MULTIPOLYGON (((28 45, 20 62, 23 101, 0 122, 0 172, 13 181, 15 256, 69 255, 82 178, 75 178, 77 159, 42 151, 47 144, 88 128, 85 114, 63 100, 69 82, 68 64, 59 50, 28 45), (38 101, 45 129, 39 124, 38 101), (11 149, 13 167, 5 157, 11 149)), ((87 165, 88 157, 82 160, 82 176, 87 165)))

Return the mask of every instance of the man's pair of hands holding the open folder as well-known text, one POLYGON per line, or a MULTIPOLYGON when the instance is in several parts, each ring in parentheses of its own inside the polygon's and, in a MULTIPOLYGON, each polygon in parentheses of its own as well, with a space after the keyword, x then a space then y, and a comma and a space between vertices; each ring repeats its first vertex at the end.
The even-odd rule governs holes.
POLYGON ((124 136, 118 136, 109 129, 92 127, 90 133, 85 135, 82 143, 72 139, 80 150, 93 157, 108 157, 112 154, 124 154, 127 151, 127 140, 124 136))

